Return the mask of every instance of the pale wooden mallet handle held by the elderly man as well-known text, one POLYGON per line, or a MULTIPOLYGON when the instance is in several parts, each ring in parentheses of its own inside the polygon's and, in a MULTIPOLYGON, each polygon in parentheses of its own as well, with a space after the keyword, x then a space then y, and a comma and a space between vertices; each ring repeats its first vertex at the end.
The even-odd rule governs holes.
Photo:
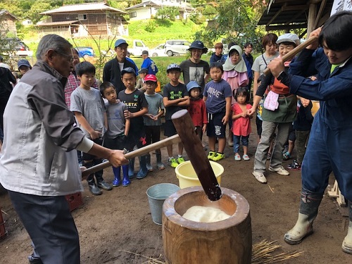
MULTIPOLYGON (((125 158, 130 159, 130 158, 135 158, 137 156, 142 156, 142 155, 144 155, 146 153, 149 153, 151 151, 155 151, 156 149, 161 149, 164 146, 177 144, 179 142, 181 142, 181 139, 178 136, 178 134, 175 134, 172 137, 168 137, 168 138, 163 139, 163 140, 161 140, 159 142, 155 142, 155 143, 150 144, 148 146, 144 146, 141 149, 136 149, 135 151, 131 151, 129 153, 125 153, 125 158)), ((110 166, 111 166, 110 161, 106 161, 106 162, 100 163, 98 165, 95 165, 95 166, 93 166, 93 167, 91 167, 91 168, 89 168, 87 170, 84 170, 82 172, 82 180, 84 178, 86 178, 88 175, 90 175, 90 174, 92 174, 94 172, 97 172, 99 170, 103 170, 105 168, 108 168, 110 166)))

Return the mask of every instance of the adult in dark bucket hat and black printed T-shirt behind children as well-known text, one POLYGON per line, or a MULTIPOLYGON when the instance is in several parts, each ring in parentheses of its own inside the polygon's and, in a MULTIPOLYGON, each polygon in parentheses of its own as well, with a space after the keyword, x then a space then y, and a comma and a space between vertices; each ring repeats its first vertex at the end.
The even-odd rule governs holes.
POLYGON ((182 61, 180 64, 181 72, 183 73, 184 84, 190 81, 196 81, 201 87, 201 94, 203 94, 206 80, 209 79, 209 63, 201 60, 201 55, 206 54, 208 49, 200 40, 192 42, 188 49, 191 52, 191 58, 187 61, 182 61))

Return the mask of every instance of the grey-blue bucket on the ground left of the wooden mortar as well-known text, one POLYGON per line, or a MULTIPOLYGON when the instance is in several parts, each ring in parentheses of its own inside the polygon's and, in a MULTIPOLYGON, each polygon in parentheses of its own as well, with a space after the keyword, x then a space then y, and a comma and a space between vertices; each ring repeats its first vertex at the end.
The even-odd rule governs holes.
POLYGON ((146 190, 149 207, 151 209, 151 219, 158 225, 161 225, 163 203, 171 194, 175 194, 180 187, 172 183, 159 183, 146 190))

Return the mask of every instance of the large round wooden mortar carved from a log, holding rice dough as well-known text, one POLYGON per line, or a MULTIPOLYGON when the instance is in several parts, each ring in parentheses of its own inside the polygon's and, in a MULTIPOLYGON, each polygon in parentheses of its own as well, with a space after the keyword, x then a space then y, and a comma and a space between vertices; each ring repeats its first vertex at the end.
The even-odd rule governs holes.
POLYGON ((166 263, 251 263, 249 203, 237 191, 221 190, 218 201, 210 201, 202 187, 180 189, 165 200, 162 232, 166 263), (194 222, 182 217, 191 206, 219 208, 231 217, 219 222, 194 222))

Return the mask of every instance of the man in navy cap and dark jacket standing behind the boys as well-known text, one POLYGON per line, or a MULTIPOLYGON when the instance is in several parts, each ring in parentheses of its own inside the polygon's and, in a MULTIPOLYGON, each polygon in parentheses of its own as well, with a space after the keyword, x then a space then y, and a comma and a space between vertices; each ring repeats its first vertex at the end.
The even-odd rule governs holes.
MULTIPOLYGON (((103 82, 111 82, 115 88, 116 92, 120 92, 126 89, 125 84, 121 80, 121 71, 124 68, 131 67, 136 68, 136 65, 127 60, 127 42, 125 39, 118 39, 115 42, 115 52, 116 57, 111 61, 108 61, 104 65, 103 69, 103 82)), ((135 85, 135 84, 134 84, 135 85)))

